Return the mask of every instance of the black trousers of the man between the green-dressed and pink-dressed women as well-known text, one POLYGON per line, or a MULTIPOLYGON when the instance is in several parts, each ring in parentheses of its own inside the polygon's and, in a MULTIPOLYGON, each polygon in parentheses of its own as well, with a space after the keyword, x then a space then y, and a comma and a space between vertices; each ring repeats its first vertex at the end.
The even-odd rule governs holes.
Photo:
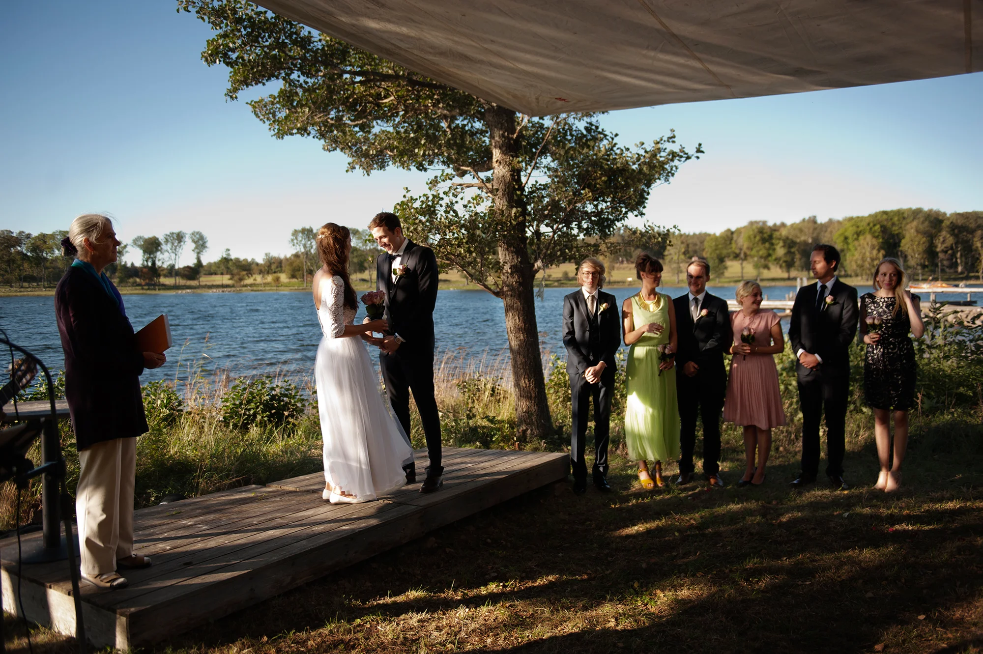
POLYGON ((703 422, 703 473, 712 475, 721 471, 721 414, 725 394, 726 378, 721 379, 720 374, 676 375, 680 473, 689 474, 696 469, 693 450, 697 416, 703 422))

